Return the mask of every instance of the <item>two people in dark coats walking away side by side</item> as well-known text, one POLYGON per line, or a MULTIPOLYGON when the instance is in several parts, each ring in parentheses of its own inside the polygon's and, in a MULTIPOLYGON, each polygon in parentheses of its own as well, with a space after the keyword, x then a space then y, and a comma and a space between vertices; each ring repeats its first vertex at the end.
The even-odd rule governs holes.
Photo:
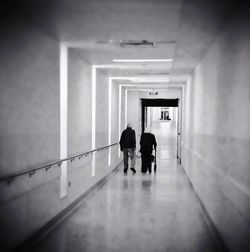
MULTIPOLYGON (((154 134, 152 134, 149 129, 146 129, 145 132, 142 133, 140 146, 142 159, 141 172, 146 173, 147 171, 149 171, 149 173, 151 173, 152 151, 153 147, 156 150, 157 143, 154 134)), ((133 174, 135 174, 136 137, 131 123, 127 124, 127 128, 121 134, 120 150, 123 152, 124 173, 127 173, 128 171, 128 159, 130 156, 130 170, 133 172, 133 174)))

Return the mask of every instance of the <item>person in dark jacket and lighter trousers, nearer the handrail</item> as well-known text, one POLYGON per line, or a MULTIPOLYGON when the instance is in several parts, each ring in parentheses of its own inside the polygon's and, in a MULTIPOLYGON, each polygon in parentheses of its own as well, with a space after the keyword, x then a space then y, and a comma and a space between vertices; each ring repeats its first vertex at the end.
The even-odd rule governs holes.
POLYGON ((124 173, 128 171, 128 157, 131 158, 130 170, 135 174, 135 147, 136 138, 135 131, 132 129, 132 124, 128 123, 127 128, 122 132, 120 138, 120 149, 123 152, 124 173))

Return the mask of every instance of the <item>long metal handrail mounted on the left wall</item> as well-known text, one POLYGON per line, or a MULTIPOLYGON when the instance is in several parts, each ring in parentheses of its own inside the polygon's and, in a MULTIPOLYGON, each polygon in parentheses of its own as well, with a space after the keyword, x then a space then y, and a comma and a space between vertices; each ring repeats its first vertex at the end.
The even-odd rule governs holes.
POLYGON ((91 150, 91 151, 84 152, 84 153, 81 153, 81 154, 78 154, 78 155, 75 155, 75 156, 60 159, 58 161, 51 162, 49 164, 39 166, 37 168, 33 168, 33 169, 25 170, 25 171, 22 171, 22 172, 17 172, 17 173, 14 173, 14 174, 2 176, 2 177, 0 177, 0 182, 7 181, 7 183, 10 184, 16 177, 20 177, 20 176, 26 175, 26 174, 29 174, 29 177, 31 177, 38 170, 45 169, 46 171, 48 171, 52 166, 57 165, 58 167, 60 167, 62 165, 62 163, 65 162, 65 161, 70 160, 70 162, 73 162, 77 158, 81 159, 82 157, 87 157, 89 154, 92 154, 94 152, 99 152, 99 151, 104 150, 104 149, 108 149, 108 148, 110 148, 110 147, 112 147, 114 145, 117 145, 117 144, 118 143, 110 144, 110 145, 107 145, 107 146, 104 146, 104 147, 101 147, 101 148, 98 148, 98 149, 95 149, 95 150, 91 150))

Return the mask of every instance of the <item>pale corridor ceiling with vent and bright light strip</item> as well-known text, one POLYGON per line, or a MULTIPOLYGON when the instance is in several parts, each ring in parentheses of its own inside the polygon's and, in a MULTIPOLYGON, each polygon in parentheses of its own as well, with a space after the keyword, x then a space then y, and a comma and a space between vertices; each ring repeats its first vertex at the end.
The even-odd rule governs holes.
POLYGON ((186 82, 223 29, 232 5, 229 0, 28 0, 20 8, 90 64, 115 65, 105 69, 108 76, 169 74, 174 84, 186 82), (164 58, 173 62, 112 61, 164 58))

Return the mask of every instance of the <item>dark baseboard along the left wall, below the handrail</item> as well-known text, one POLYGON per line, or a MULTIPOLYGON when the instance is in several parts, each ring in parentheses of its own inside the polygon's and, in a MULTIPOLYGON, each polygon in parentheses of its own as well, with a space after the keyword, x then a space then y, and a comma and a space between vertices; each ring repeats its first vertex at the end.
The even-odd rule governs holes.
MULTIPOLYGON (((121 161, 122 162, 122 161, 121 161)), ((103 185, 106 184, 108 179, 119 170, 119 164, 106 176, 100 179, 96 184, 91 186, 85 193, 69 204, 65 209, 48 221, 44 226, 39 228, 33 235, 28 237, 24 242, 18 245, 13 251, 34 251, 32 248, 43 240, 53 229, 55 229, 60 223, 62 223, 66 218, 68 218, 81 204, 82 201, 90 197, 97 190, 99 190, 103 185)))

